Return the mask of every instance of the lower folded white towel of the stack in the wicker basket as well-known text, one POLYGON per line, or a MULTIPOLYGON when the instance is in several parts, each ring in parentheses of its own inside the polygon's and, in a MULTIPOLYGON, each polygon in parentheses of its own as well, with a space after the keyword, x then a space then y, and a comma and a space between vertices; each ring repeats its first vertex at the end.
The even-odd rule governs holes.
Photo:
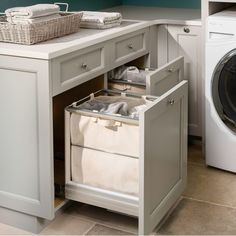
POLYGON ((32 24, 32 23, 40 23, 40 22, 44 22, 44 21, 48 21, 48 20, 54 20, 54 19, 58 19, 60 18, 61 15, 58 14, 53 14, 50 16, 42 16, 42 17, 36 17, 36 18, 32 18, 32 19, 23 19, 23 18, 18 18, 18 17, 7 17, 7 21, 9 23, 13 23, 13 24, 32 24))

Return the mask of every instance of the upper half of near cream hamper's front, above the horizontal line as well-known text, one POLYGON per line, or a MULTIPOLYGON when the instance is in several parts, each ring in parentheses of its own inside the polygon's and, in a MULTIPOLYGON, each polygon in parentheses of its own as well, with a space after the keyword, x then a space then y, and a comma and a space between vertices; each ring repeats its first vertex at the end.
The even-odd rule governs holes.
POLYGON ((72 113, 71 144, 115 154, 139 157, 139 126, 72 113))

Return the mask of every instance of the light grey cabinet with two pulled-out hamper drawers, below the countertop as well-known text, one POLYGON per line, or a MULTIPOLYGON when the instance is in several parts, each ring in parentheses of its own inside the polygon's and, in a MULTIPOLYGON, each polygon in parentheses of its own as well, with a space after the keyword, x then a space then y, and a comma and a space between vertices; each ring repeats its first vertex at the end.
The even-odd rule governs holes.
MULTIPOLYGON (((0 56, 0 216, 7 209, 8 222, 24 221, 21 227, 33 232, 39 231, 33 224, 54 218, 53 124, 64 117, 54 113, 54 99, 61 96, 60 105, 75 99, 78 85, 148 57, 149 46, 144 27, 49 60, 0 56)), ((147 92, 159 98, 139 121, 139 197, 67 186, 68 199, 138 216, 140 234, 154 229, 186 183, 187 83, 183 58, 172 57, 146 80, 147 92)))

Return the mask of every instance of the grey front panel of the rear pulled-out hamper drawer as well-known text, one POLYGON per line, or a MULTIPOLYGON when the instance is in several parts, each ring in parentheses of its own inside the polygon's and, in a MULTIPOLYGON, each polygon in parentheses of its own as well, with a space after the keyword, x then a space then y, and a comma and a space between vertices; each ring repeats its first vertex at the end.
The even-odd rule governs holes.
POLYGON ((178 57, 151 72, 146 78, 146 93, 160 96, 183 80, 184 58, 178 57))

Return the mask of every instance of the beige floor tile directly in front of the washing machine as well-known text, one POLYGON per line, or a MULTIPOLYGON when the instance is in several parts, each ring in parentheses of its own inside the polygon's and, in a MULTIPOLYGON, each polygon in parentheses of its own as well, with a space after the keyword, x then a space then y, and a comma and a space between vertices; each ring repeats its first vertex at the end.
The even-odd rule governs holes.
POLYGON ((188 165, 184 196, 236 207, 236 175, 211 167, 188 165))

